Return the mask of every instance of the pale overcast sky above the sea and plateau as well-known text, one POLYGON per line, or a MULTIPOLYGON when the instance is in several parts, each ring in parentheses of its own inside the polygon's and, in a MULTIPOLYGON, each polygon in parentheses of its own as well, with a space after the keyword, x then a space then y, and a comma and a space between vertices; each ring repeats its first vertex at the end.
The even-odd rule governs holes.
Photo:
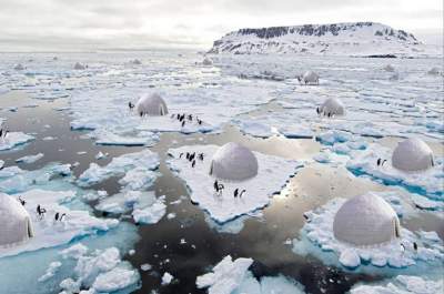
POLYGON ((0 51, 192 47, 240 28, 376 21, 443 39, 443 0, 0 0, 0 51))

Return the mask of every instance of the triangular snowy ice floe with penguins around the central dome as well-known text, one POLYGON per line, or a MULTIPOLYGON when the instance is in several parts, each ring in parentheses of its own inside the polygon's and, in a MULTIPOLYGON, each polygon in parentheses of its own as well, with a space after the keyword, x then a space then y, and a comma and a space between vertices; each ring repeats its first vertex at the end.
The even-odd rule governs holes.
POLYGON ((209 172, 211 159, 216 150, 216 145, 170 149, 171 159, 168 164, 174 173, 186 182, 191 190, 191 200, 221 224, 266 206, 271 196, 281 191, 287 179, 296 172, 297 168, 302 166, 293 160, 254 152, 258 162, 260 162, 258 175, 241 182, 221 180, 220 183, 224 185, 223 193, 215 195, 213 187, 215 179, 209 172), (195 166, 192 168, 184 156, 179 158, 180 153, 186 152, 204 153, 204 160, 196 159, 195 166), (234 197, 235 189, 246 190, 246 193, 241 199, 234 197))

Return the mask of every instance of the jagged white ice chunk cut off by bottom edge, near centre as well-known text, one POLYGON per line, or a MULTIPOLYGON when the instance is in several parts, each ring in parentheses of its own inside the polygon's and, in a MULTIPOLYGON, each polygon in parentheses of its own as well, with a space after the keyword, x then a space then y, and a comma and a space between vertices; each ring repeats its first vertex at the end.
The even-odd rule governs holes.
POLYGON ((198 288, 209 287, 210 294, 230 294, 241 285, 252 263, 252 258, 233 261, 228 255, 213 267, 212 273, 198 276, 195 285, 198 288))

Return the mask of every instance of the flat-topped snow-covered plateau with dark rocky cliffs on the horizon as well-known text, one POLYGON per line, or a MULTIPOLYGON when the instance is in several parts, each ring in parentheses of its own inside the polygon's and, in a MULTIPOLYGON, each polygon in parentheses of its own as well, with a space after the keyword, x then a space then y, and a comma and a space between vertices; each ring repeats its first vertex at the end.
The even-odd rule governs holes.
POLYGON ((346 57, 442 55, 412 33, 376 22, 240 29, 214 41, 209 53, 297 53, 346 57))

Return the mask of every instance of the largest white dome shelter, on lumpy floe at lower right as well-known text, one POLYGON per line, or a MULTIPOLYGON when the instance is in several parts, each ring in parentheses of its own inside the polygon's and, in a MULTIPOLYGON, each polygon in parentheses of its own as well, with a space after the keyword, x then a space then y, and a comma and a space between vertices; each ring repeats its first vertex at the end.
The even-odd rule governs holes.
POLYGON ((333 234, 339 241, 372 246, 401 236, 396 212, 381 196, 367 193, 346 201, 336 212, 333 234))

